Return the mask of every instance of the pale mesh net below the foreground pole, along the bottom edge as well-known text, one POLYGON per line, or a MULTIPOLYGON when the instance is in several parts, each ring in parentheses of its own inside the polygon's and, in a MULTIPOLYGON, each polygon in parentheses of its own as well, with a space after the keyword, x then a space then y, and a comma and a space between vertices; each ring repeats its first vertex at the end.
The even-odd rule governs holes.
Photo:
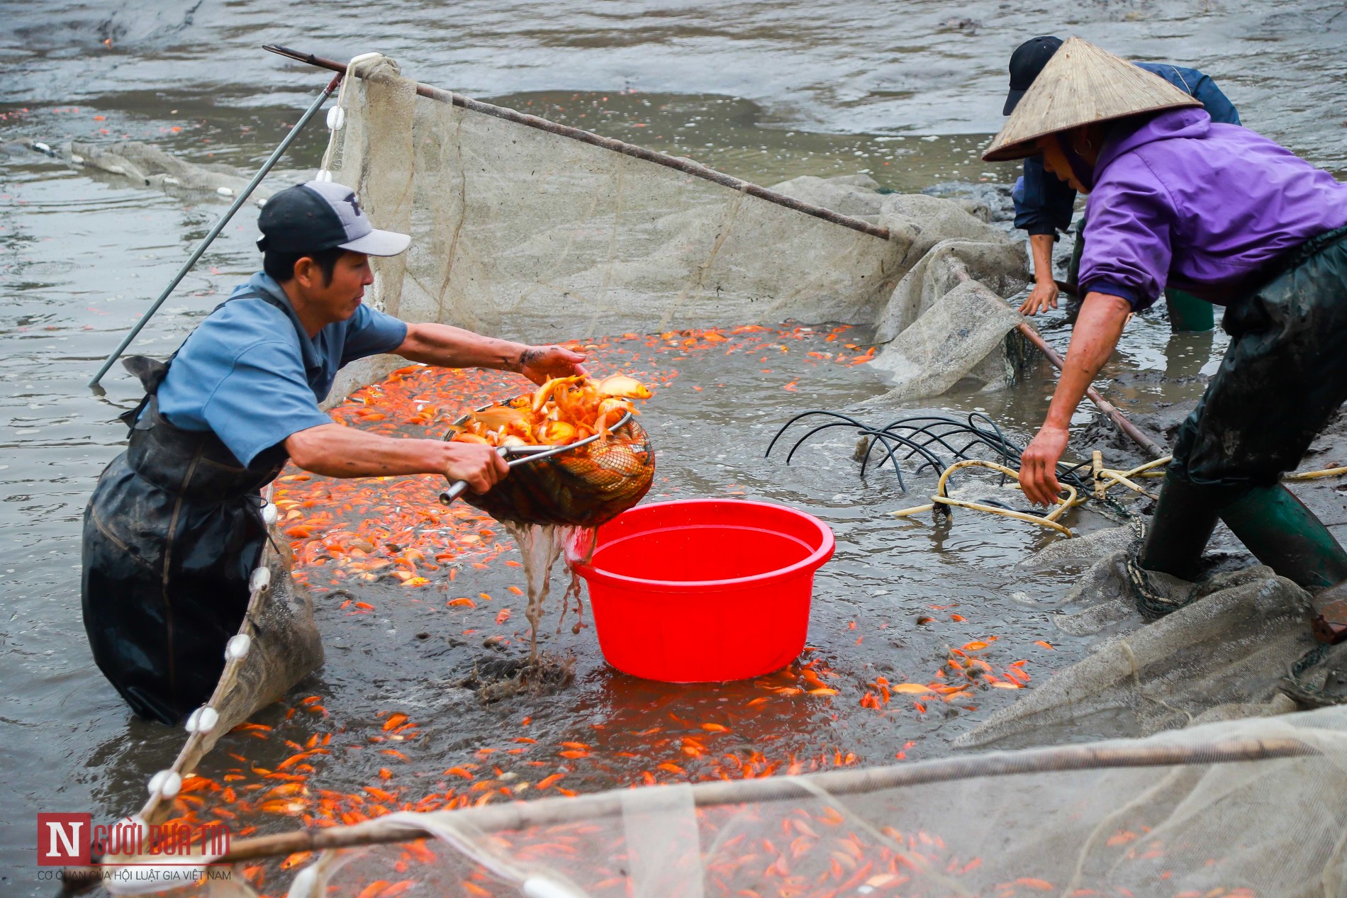
POLYGON ((431 839, 330 852, 290 894, 356 898, 405 879, 473 895, 1340 895, 1344 724, 1335 708, 909 767, 403 813, 361 829, 431 839))

